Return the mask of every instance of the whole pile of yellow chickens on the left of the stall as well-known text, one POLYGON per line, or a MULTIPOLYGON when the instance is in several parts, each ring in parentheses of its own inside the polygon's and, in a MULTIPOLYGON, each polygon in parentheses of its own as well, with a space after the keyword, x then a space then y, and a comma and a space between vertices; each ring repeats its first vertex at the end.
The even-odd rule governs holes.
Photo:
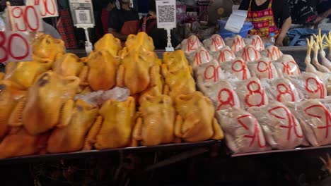
POLYGON ((64 42, 40 35, 33 61, 11 62, 0 73, 0 159, 221 140, 211 101, 195 89, 182 51, 153 52, 144 32, 125 47, 105 35, 86 58, 66 54, 64 42), (126 101, 100 108, 76 94, 127 87, 126 101))

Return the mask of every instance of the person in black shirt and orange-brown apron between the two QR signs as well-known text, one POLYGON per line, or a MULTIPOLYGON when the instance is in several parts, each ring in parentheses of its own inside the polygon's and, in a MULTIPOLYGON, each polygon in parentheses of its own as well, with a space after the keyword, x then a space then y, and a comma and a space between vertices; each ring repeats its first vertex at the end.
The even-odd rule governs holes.
POLYGON ((109 13, 108 32, 124 42, 130 34, 137 34, 139 16, 130 8, 130 0, 122 0, 121 8, 109 13))

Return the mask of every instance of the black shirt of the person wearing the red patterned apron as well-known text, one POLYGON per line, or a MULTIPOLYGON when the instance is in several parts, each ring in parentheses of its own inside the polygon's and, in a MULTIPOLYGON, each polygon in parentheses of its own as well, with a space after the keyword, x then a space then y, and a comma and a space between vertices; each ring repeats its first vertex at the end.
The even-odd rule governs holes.
MULTIPOLYGON (((252 0, 252 5, 250 6, 250 0, 243 0, 239 6, 239 10, 248 10, 250 6, 250 11, 263 11, 268 8, 270 0, 265 1, 264 4, 257 6, 255 0, 252 0)), ((274 13, 274 22, 277 27, 281 28, 284 21, 289 18, 289 4, 286 0, 273 0, 272 1, 272 11, 274 13)))

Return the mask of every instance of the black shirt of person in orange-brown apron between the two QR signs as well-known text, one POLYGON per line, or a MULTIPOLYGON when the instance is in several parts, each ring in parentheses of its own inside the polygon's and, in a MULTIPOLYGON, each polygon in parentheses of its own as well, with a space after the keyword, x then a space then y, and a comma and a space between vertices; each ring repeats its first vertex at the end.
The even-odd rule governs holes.
POLYGON ((108 28, 112 28, 117 32, 120 32, 124 23, 129 20, 139 20, 137 11, 134 11, 134 9, 127 11, 124 9, 118 10, 117 8, 112 8, 108 18, 108 28))

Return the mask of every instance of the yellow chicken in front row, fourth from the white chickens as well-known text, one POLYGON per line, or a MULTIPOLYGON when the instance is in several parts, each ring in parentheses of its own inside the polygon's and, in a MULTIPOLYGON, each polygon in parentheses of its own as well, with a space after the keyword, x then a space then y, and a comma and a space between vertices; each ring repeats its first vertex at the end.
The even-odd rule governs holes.
POLYGON ((48 139, 47 152, 61 153, 80 151, 83 148, 86 136, 95 118, 98 115, 98 107, 77 100, 67 102, 67 113, 62 112, 59 123, 61 128, 55 128, 48 139))

